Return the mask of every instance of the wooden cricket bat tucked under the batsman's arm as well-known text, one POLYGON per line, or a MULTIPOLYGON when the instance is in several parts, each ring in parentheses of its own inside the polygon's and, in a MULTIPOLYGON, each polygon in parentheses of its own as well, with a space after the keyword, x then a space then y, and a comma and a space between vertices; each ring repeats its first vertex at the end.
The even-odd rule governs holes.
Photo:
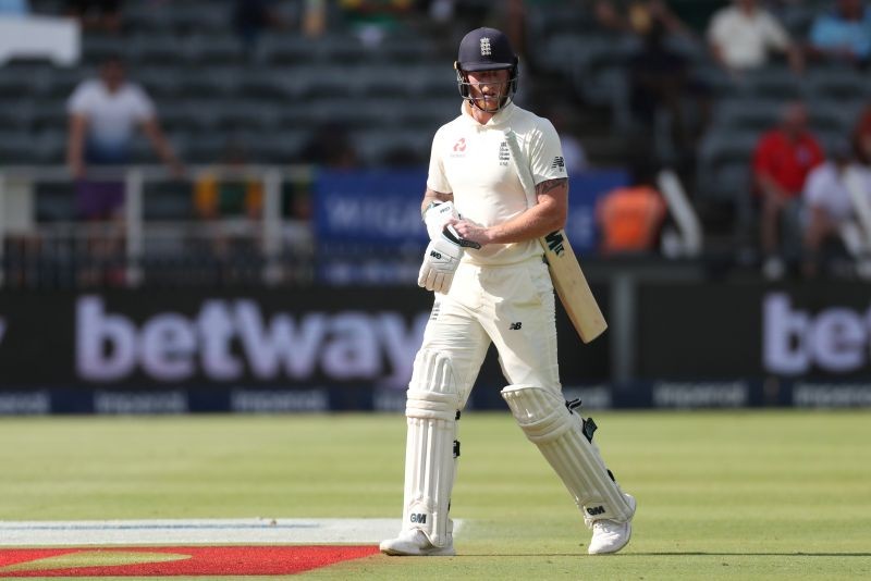
MULTIPOLYGON (((533 206, 537 200, 532 174, 524 162, 513 132, 505 132, 505 141, 511 150, 514 170, 526 191, 527 202, 533 206)), ((580 335, 580 339, 584 343, 590 343, 608 329, 608 323, 587 283, 587 277, 584 276, 584 271, 580 270, 577 256, 568 243, 568 236, 564 230, 560 228, 542 236, 538 242, 544 249, 544 258, 548 261, 553 287, 556 289, 556 295, 560 297, 568 319, 580 335)))

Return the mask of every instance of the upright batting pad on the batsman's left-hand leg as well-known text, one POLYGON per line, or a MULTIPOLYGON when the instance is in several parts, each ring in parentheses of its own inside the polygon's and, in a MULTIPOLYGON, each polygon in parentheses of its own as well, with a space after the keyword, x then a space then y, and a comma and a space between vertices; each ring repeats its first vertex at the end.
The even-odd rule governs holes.
POLYGON ((449 543, 447 510, 454 485, 459 395, 450 359, 421 349, 415 358, 405 416, 403 530, 420 529, 434 546, 449 543))

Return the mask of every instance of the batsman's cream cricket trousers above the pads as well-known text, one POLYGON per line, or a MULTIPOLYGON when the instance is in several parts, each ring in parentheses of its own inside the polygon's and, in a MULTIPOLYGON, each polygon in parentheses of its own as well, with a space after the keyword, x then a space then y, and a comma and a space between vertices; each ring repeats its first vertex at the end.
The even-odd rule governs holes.
POLYGON ((461 262, 447 294, 436 294, 421 350, 447 355, 461 409, 491 342, 508 384, 560 393, 554 309, 541 257, 500 267, 461 262))

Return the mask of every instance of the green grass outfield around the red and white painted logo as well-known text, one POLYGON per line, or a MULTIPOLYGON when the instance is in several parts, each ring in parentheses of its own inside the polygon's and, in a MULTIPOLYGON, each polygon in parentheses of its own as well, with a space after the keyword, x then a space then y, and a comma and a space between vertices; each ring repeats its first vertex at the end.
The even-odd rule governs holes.
MULTIPOLYGON (((458 557, 299 577, 871 578, 871 411, 593 416, 638 499, 623 553, 588 557, 579 512, 510 413, 470 411, 458 557)), ((0 519, 398 517, 404 438, 391 415, 4 418, 0 519)))

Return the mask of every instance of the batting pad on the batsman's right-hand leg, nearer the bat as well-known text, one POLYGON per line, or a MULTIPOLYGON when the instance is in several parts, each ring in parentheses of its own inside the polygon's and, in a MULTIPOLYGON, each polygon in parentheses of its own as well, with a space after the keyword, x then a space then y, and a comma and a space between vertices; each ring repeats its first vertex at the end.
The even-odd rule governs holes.
POLYGON ((599 448, 584 434, 584 420, 562 396, 532 385, 502 390, 517 423, 560 475, 588 526, 610 519, 626 522, 633 509, 608 473, 599 448))

